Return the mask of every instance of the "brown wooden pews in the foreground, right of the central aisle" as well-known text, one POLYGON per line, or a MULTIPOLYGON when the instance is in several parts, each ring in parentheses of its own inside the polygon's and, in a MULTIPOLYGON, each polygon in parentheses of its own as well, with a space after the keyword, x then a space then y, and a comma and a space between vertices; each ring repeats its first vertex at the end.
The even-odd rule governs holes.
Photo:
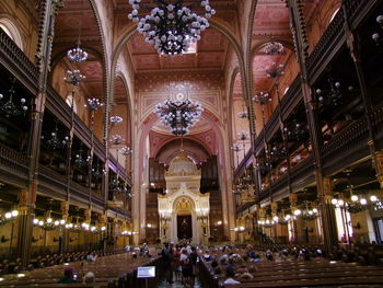
MULTIPOLYGON (((243 255, 246 250, 236 250, 234 253, 243 255)), ((260 262, 235 265, 237 270, 247 269, 252 278, 241 278, 239 274, 232 277, 240 284, 225 284, 227 265, 220 263, 219 270, 211 267, 213 260, 219 260, 222 252, 211 253, 212 258, 201 257, 200 279, 204 287, 211 288, 257 288, 257 287, 343 287, 367 288, 383 287, 383 267, 376 265, 359 265, 330 261, 324 257, 314 257, 304 261, 289 256, 285 261, 268 261, 265 253, 260 262)))

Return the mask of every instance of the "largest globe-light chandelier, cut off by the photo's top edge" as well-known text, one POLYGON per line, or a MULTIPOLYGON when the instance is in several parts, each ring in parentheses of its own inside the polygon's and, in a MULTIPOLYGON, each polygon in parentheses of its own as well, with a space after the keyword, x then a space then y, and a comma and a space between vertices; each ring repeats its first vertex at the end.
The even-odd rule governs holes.
POLYGON ((183 0, 153 0, 158 7, 141 3, 141 0, 129 0, 131 12, 128 18, 139 22, 137 31, 146 36, 146 42, 154 45, 159 54, 176 55, 186 53, 190 42, 200 39, 200 34, 209 27, 207 19, 216 14, 209 0, 200 0, 205 16, 190 11, 192 5, 183 7, 183 0), (139 18, 140 7, 150 10, 149 15, 139 18))

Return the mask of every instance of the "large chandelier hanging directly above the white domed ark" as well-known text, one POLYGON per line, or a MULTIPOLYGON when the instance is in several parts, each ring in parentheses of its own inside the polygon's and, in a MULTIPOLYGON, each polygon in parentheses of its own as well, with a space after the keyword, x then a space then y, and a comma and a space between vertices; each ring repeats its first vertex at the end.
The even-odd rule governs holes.
POLYGON ((190 99, 176 99, 175 101, 166 99, 164 102, 156 104, 154 108, 154 113, 161 122, 170 127, 175 136, 186 135, 198 120, 202 111, 201 104, 190 99))

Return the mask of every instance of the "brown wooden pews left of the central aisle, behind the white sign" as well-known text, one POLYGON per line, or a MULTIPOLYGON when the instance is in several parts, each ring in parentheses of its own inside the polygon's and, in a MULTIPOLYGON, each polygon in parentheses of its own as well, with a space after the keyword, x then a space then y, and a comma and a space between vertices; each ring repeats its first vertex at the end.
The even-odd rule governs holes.
POLYGON ((3 275, 0 278, 0 288, 126 288, 146 287, 144 279, 137 279, 137 268, 140 266, 155 266, 156 277, 148 279, 148 288, 158 287, 163 275, 161 257, 134 257, 131 253, 107 255, 94 262, 77 261, 45 268, 38 268, 21 274, 3 275), (58 284, 63 270, 71 267, 77 274, 77 283, 58 284), (83 277, 89 272, 94 273, 95 281, 84 284, 83 277))

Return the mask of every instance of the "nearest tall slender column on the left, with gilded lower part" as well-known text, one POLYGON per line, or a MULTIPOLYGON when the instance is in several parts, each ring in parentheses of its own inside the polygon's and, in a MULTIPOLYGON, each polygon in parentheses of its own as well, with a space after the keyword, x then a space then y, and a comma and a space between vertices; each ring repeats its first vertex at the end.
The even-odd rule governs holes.
POLYGON ((50 70, 50 55, 55 34, 55 19, 61 0, 40 1, 40 20, 38 43, 36 53, 36 66, 38 68, 38 94, 33 100, 33 111, 30 130, 28 146, 28 187, 20 197, 20 219, 18 233, 18 257, 22 258, 22 269, 27 267, 31 257, 33 218, 36 203, 38 159, 43 126, 43 116, 46 100, 47 78, 50 70))

